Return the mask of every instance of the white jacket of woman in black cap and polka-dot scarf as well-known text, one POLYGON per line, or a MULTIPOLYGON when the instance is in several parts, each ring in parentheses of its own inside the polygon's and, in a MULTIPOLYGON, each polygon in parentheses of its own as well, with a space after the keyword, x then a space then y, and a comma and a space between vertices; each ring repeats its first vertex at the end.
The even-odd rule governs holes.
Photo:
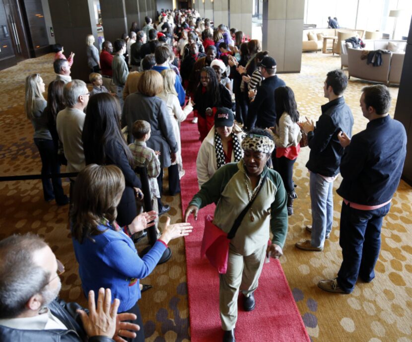
MULTIPOLYGON (((199 189, 202 187, 202 184, 206 183, 217 170, 216 151, 214 148, 214 132, 215 128, 213 126, 207 134, 205 140, 203 140, 199 149, 198 158, 196 159, 199 189)), ((243 133, 238 133, 236 136, 241 144, 243 133)), ((233 149, 231 161, 233 162, 234 160, 235 156, 233 149)))

